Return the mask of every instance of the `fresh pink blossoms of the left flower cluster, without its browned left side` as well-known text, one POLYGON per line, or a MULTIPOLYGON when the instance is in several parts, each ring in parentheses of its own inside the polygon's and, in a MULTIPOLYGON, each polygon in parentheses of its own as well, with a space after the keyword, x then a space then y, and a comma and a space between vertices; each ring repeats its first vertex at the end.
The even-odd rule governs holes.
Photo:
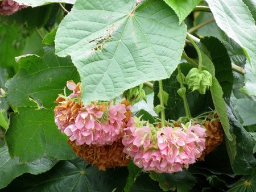
POLYGON ((125 123, 126 107, 123 104, 110 105, 106 120, 100 118, 104 112, 97 110, 97 105, 88 105, 81 108, 75 123, 69 124, 64 133, 69 140, 76 141, 76 145, 110 145, 122 135, 125 123))

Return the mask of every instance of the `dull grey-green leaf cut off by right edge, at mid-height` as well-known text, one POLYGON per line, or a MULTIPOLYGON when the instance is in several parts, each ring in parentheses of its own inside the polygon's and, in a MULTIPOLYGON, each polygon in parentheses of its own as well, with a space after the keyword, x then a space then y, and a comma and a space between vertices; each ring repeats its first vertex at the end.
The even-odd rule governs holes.
POLYGON ((250 99, 237 99, 236 111, 241 116, 243 126, 256 124, 256 101, 250 99))

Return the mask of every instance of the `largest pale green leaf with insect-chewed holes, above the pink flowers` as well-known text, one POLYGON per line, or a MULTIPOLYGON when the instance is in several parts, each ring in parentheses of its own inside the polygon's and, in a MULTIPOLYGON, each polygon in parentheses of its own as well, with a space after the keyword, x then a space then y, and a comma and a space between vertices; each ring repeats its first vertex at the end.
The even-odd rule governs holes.
POLYGON ((84 103, 108 100, 142 82, 170 77, 185 31, 160 0, 138 7, 134 0, 78 0, 57 30, 56 53, 71 56, 84 103))

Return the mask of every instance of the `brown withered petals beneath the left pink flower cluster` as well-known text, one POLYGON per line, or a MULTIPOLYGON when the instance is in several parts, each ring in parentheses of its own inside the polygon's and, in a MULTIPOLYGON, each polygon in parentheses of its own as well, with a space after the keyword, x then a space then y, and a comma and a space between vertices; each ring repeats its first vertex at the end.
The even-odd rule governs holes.
POLYGON ((89 164, 95 165, 99 170, 106 170, 106 168, 114 168, 116 166, 126 166, 130 158, 123 153, 123 144, 121 139, 115 141, 112 145, 104 145, 98 147, 97 145, 76 145, 75 141, 68 140, 73 152, 77 156, 82 157, 88 161, 89 164))

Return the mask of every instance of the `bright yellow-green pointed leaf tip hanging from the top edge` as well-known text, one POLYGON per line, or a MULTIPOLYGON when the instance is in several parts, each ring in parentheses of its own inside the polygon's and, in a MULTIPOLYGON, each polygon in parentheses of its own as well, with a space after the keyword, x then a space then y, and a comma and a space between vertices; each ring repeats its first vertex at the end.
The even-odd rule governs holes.
POLYGON ((202 0, 164 0, 179 16, 180 23, 202 0))

